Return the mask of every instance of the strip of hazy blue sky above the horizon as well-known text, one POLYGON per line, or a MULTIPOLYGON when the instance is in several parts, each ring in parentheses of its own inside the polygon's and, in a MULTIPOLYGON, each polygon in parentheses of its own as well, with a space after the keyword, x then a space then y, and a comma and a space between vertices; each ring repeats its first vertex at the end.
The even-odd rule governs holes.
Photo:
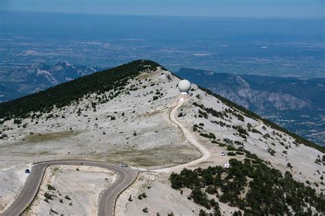
POLYGON ((0 11, 324 18, 324 2, 325 0, 0 0, 0 11))

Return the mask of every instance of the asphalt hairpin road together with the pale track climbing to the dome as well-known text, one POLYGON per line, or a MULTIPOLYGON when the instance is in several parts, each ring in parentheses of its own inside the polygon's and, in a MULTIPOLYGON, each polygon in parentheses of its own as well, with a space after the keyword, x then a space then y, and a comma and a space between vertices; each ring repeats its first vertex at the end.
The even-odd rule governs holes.
MULTIPOLYGON (((189 130, 187 130, 182 123, 180 123, 176 119, 176 111, 182 104, 184 104, 185 99, 180 100, 176 103, 175 106, 171 109, 170 112, 170 120, 175 123, 180 130, 182 130, 185 138, 191 145, 197 148, 202 156, 196 160, 190 161, 189 163, 184 163, 182 165, 177 165, 174 167, 167 167, 163 169, 155 169, 155 170, 146 170, 145 171, 158 171, 169 173, 171 171, 178 171, 183 169, 184 167, 190 167, 191 165, 196 165, 197 163, 201 163, 204 160, 210 157, 210 152, 203 145, 201 145, 197 139, 191 134, 189 130)), ((98 206, 97 206, 97 214, 98 215, 114 215, 115 213, 115 202, 117 197, 136 180, 138 173, 129 167, 118 167, 117 165, 112 165, 104 162, 96 162, 96 161, 88 161, 88 160, 53 160, 42 163, 36 163, 33 165, 31 173, 27 178, 21 193, 16 197, 16 200, 8 206, 7 209, 1 216, 11 216, 11 215, 20 215, 25 211, 25 209, 32 204, 36 194, 38 193, 38 189, 43 180, 43 176, 45 174, 45 170, 47 167, 51 165, 87 165, 91 167, 101 167, 105 169, 110 169, 117 173, 117 180, 107 187, 104 191, 101 191, 99 194, 98 206)))

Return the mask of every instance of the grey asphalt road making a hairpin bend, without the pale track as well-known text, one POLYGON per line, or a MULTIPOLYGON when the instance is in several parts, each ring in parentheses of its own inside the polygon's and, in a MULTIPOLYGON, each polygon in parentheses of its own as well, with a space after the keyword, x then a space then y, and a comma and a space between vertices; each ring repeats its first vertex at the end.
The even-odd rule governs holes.
POLYGON ((14 200, 14 202, 0 215, 12 216, 23 213, 25 208, 27 208, 27 206, 34 200, 38 187, 40 187, 40 183, 43 179, 45 169, 49 165, 81 165, 81 163, 86 166, 110 169, 117 173, 117 180, 113 182, 110 187, 106 188, 104 191, 101 191, 97 206, 98 215, 114 215, 115 200, 121 191, 127 189, 134 182, 134 180, 136 180, 136 171, 128 167, 118 167, 118 165, 83 160, 57 160, 33 165, 31 173, 29 173, 21 193, 19 193, 16 200, 14 200))

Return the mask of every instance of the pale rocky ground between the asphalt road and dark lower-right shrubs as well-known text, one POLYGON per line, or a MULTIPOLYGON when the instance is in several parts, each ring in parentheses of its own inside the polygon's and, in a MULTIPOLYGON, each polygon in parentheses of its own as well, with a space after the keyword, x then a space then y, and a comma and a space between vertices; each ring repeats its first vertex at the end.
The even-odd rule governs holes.
MULTIPOLYGON (((202 206, 187 199, 191 190, 184 189, 180 193, 171 189, 168 178, 169 173, 140 173, 134 185, 119 196, 116 215, 199 215, 202 206), (141 196, 143 193, 146 197, 141 196), (143 212, 144 208, 147 208, 147 213, 143 212)), ((238 210, 221 202, 219 205, 225 215, 238 210)))

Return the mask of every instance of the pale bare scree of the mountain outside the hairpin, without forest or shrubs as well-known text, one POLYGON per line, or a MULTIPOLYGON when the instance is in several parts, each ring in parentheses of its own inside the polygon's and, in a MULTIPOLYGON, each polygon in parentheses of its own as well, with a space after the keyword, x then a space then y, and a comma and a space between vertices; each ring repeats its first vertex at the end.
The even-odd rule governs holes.
MULTIPOLYGON (((158 69, 136 77, 128 84, 125 93, 106 104, 97 103, 103 95, 86 95, 78 104, 55 109, 38 119, 24 119, 21 125, 27 123, 25 128, 15 125, 13 121, 5 121, 0 125, 0 130, 8 135, 7 139, 0 141, 1 175, 13 175, 12 167, 17 165, 25 166, 34 161, 61 158, 123 162, 145 169, 171 167, 195 160, 200 157, 200 152, 186 141, 182 131, 169 119, 171 107, 179 99, 176 88, 178 82, 178 78, 173 77, 169 71, 158 69), (154 96, 158 99, 153 99, 154 96), (97 105, 92 106, 92 102, 97 105), (49 115, 53 117, 47 119, 49 115)), ((226 147, 220 147, 200 136, 200 133, 211 132, 219 143, 244 147, 269 161, 276 169, 291 171, 296 180, 308 180, 317 191, 324 190, 324 185, 320 184, 324 166, 315 163, 317 157, 322 158, 323 155, 318 150, 295 143, 289 135, 254 119, 243 117, 241 121, 238 115, 243 113, 222 104, 219 99, 207 95, 195 85, 189 99, 178 110, 178 115, 180 112, 182 116, 178 117, 178 121, 193 132, 195 139, 211 154, 210 158, 190 168, 223 166, 231 157, 243 159, 243 156, 221 156, 221 150, 226 147), (202 115, 205 111, 194 106, 193 102, 225 112, 227 116, 208 115, 205 118, 202 115), (193 131, 193 125, 199 125, 196 132, 193 131), (243 138, 237 129, 232 128, 239 125, 247 131, 248 128, 254 128, 261 134, 248 131, 248 136, 243 138)), ((22 172, 23 168, 17 176, 23 175, 22 172)), ((117 211, 121 215, 145 215, 143 208, 147 207, 150 215, 156 212, 163 215, 171 211, 176 215, 197 214, 200 207, 186 199, 185 194, 188 192, 184 191, 180 195, 180 191, 171 189, 168 177, 169 174, 141 173, 139 182, 119 197, 117 211), (147 182, 152 184, 150 189, 143 188, 147 182), (147 190, 145 193, 148 193, 148 197, 139 200, 137 195, 141 190, 147 190), (130 195, 132 202, 128 201, 130 195)), ((16 179, 14 184, 18 189, 23 180, 19 181, 19 177, 16 179)), ((18 191, 9 189, 3 178, 0 179, 0 196, 3 199, 12 200, 16 193, 18 191)), ((225 215, 236 210, 226 204, 220 204, 220 208, 225 215)))

